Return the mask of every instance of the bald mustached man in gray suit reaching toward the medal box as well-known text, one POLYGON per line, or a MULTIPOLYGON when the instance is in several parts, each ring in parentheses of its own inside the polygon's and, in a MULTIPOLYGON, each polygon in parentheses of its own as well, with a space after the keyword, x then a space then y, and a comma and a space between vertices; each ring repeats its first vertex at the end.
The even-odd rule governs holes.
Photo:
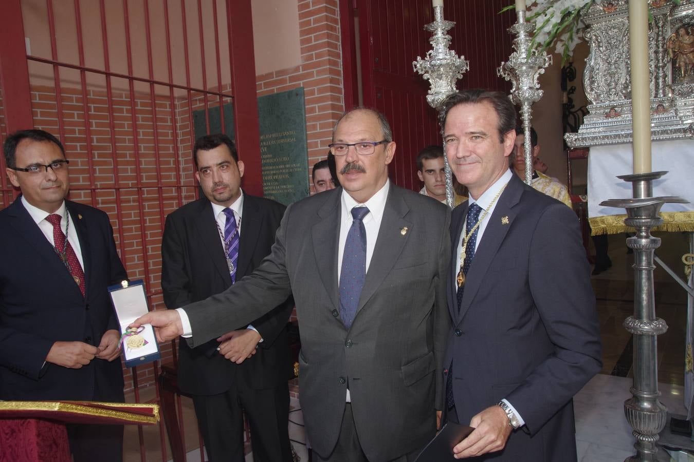
POLYGON ((385 118, 354 109, 330 145, 341 188, 291 204, 271 254, 225 292, 137 319, 191 346, 294 294, 301 407, 321 461, 412 461, 443 405, 450 213, 388 180, 385 118), (189 323, 189 324, 188 324, 189 323), (185 326, 185 327, 184 327, 185 326))

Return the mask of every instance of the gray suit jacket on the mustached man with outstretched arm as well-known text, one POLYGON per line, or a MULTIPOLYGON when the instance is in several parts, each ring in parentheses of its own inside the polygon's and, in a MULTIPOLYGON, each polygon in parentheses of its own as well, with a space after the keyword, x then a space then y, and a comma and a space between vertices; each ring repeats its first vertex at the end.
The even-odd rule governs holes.
POLYGON ((195 346, 253 321, 292 292, 301 326, 301 407, 314 450, 327 457, 335 447, 349 387, 364 453, 390 460, 434 436, 434 409, 443 404, 450 212, 391 184, 357 315, 346 330, 337 281, 341 193, 289 206, 271 254, 253 274, 184 308, 195 346))

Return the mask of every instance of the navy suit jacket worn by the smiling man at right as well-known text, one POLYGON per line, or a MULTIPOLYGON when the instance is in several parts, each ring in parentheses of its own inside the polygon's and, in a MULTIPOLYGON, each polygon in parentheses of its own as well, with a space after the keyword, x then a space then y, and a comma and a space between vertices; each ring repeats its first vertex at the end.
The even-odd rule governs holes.
MULTIPOLYGON (((468 202, 452 213, 457 249, 468 202)), ((448 277, 457 418, 506 398, 525 420, 502 452, 484 460, 576 459, 572 398, 600 371, 600 329, 578 220, 566 205, 514 175, 468 270, 460 310, 448 277)), ((481 459, 475 459, 481 460, 481 459)))

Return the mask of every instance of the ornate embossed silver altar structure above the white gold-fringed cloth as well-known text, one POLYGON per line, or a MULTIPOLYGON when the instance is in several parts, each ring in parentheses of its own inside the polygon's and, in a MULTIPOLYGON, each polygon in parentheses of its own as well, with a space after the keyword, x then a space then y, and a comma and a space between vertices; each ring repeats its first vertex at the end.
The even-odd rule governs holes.
MULTIPOLYGON (((649 0, 651 139, 694 138, 694 0, 649 0)), ((632 142, 632 100, 627 0, 594 3, 583 21, 591 47, 584 88, 591 102, 570 148, 632 142)))

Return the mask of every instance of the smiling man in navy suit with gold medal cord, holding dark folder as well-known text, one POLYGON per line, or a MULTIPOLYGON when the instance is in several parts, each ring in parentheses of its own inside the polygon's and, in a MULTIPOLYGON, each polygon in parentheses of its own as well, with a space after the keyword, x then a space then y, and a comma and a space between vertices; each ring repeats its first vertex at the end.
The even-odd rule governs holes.
POLYGON ((516 112, 468 90, 443 105, 443 141, 470 199, 452 213, 443 359, 446 418, 475 431, 458 459, 575 461, 572 398, 600 371, 600 332, 576 216, 508 168, 516 112))

